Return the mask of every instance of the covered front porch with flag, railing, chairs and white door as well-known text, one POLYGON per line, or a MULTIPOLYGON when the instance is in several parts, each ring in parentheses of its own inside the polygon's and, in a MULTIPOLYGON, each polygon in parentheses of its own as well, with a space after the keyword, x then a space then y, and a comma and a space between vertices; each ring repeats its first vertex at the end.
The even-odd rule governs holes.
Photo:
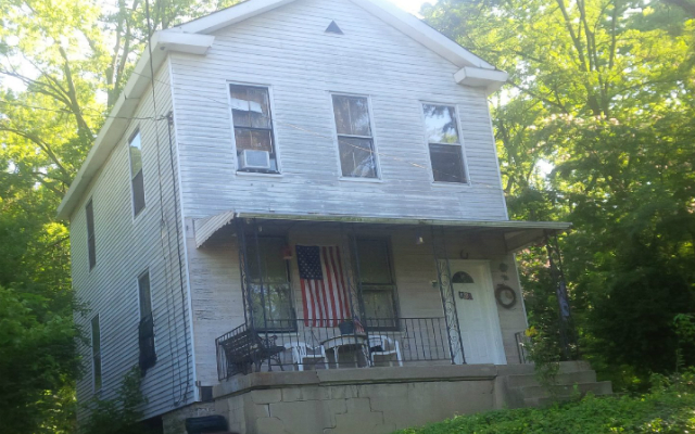
POLYGON ((527 322, 514 252, 569 227, 235 212, 193 226, 199 251, 233 251, 239 267, 228 289, 241 306, 231 327, 215 323, 218 381, 521 363, 527 322))

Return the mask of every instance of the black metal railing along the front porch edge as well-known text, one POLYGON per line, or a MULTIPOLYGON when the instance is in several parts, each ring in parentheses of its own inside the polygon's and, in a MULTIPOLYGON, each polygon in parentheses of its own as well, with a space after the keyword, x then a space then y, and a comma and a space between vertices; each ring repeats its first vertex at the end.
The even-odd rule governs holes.
POLYGON ((367 319, 345 329, 334 320, 275 320, 275 330, 243 324, 218 337, 217 373, 399 367, 450 362, 444 318, 367 319), (323 327, 317 327, 323 326, 323 327), (291 331, 288 331, 291 330, 291 331))

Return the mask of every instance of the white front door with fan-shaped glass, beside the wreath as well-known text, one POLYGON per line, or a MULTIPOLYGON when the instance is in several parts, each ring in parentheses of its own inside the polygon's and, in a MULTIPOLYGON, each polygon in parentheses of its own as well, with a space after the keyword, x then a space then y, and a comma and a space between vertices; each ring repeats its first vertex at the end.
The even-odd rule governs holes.
POLYGON ((489 265, 451 260, 450 267, 466 363, 505 363, 489 265))

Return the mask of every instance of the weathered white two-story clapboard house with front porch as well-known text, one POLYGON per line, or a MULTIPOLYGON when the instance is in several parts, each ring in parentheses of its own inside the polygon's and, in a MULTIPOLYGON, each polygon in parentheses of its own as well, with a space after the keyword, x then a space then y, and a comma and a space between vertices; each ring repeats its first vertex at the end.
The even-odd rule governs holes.
POLYGON ((155 33, 59 209, 89 308, 78 399, 138 366, 166 433, 505 405, 500 379, 529 373, 514 252, 569 226, 508 219, 488 106, 506 77, 381 0, 249 0, 155 33))

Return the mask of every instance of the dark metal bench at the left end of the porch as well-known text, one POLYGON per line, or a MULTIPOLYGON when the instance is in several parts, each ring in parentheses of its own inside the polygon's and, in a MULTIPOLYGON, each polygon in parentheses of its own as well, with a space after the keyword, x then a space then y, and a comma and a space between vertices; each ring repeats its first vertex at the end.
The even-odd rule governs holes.
POLYGON ((285 347, 276 345, 276 339, 277 336, 261 337, 256 330, 245 324, 228 333, 219 342, 227 358, 227 378, 237 373, 245 375, 251 372, 252 366, 258 372, 265 360, 268 360, 269 370, 273 370, 270 360, 277 361, 283 370, 280 354, 285 352, 285 347))

